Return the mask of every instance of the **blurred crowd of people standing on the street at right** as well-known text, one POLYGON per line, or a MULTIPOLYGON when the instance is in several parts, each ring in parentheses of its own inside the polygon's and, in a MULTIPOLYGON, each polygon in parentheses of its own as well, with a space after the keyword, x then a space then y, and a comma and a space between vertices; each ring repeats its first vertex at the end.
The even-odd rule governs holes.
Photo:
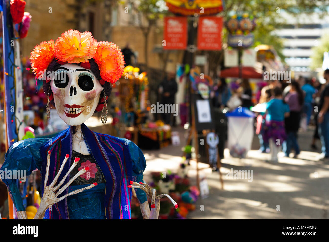
POLYGON ((271 153, 272 162, 278 162, 281 148, 286 157, 293 149, 293 158, 297 158, 300 153, 298 131, 307 130, 311 122, 316 128, 310 146, 316 150, 316 142, 321 140, 322 154, 319 159, 329 161, 329 69, 324 71, 324 79, 324 84, 316 78, 304 77, 260 82, 253 99, 248 79, 228 85, 221 78, 215 88, 214 106, 253 106, 253 111, 258 114, 256 134, 260 152, 271 153))

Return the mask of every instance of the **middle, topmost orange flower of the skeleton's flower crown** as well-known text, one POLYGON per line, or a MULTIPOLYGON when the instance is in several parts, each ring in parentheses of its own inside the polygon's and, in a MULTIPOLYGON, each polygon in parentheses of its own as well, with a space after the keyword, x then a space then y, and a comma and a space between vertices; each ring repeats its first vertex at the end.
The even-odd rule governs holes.
POLYGON ((70 29, 56 40, 55 57, 68 63, 89 62, 94 57, 96 43, 90 32, 70 29))

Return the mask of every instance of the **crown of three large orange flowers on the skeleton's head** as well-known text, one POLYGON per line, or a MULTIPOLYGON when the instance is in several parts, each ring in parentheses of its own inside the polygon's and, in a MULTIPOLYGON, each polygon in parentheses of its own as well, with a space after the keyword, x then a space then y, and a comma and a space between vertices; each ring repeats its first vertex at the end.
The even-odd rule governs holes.
MULTIPOLYGON (((116 44, 108 41, 94 40, 90 32, 81 33, 70 29, 54 40, 42 41, 31 51, 31 67, 36 77, 43 77, 53 59, 60 63, 81 63, 84 68, 90 69, 90 59, 94 59, 100 70, 101 80, 115 83, 123 73, 124 59, 121 50, 116 44)), ((48 82, 49 80, 47 80, 48 82)))

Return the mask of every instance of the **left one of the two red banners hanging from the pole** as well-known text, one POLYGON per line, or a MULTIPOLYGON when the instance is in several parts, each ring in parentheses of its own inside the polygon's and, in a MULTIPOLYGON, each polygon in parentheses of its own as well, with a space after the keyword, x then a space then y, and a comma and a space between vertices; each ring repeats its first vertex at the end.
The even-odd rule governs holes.
POLYGON ((164 18, 164 41, 165 50, 186 49, 187 45, 187 18, 165 17, 164 18))

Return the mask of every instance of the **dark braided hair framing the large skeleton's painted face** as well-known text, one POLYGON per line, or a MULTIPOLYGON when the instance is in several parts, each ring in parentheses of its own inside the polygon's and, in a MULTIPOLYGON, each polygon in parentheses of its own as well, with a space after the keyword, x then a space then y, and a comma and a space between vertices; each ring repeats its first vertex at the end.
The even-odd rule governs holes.
MULTIPOLYGON (((66 64, 66 63, 65 63, 66 64)), ((81 62, 78 63, 74 63, 78 66, 81 66, 81 62)), ((98 80, 101 80, 101 74, 100 74, 100 70, 99 67, 97 65, 97 63, 95 62, 94 59, 90 59, 89 60, 89 64, 90 64, 90 70, 92 71, 92 73, 95 75, 95 77, 98 80)), ((55 71, 58 67, 62 66, 64 64, 58 63, 56 59, 53 59, 53 61, 49 64, 48 68, 47 68, 47 72, 53 72, 55 71)), ((46 75, 46 74, 45 74, 46 75)), ((46 78, 45 78, 46 79, 46 78)), ((102 87, 104 87, 104 91, 106 96, 110 96, 111 92, 112 92, 112 86, 109 82, 105 82, 104 85, 102 85, 102 87)), ((42 84, 42 89, 44 94, 48 94, 48 90, 49 90, 49 96, 52 94, 51 88, 50 88, 50 81, 46 82, 46 80, 43 81, 42 84)), ((100 98, 99 98, 99 104, 103 102, 101 102, 101 99, 103 98, 103 95, 101 94, 100 98)), ((55 102, 54 102, 54 98, 52 100, 50 100, 50 103, 55 107, 55 102)), ((95 111, 96 112, 96 111, 95 111)))

